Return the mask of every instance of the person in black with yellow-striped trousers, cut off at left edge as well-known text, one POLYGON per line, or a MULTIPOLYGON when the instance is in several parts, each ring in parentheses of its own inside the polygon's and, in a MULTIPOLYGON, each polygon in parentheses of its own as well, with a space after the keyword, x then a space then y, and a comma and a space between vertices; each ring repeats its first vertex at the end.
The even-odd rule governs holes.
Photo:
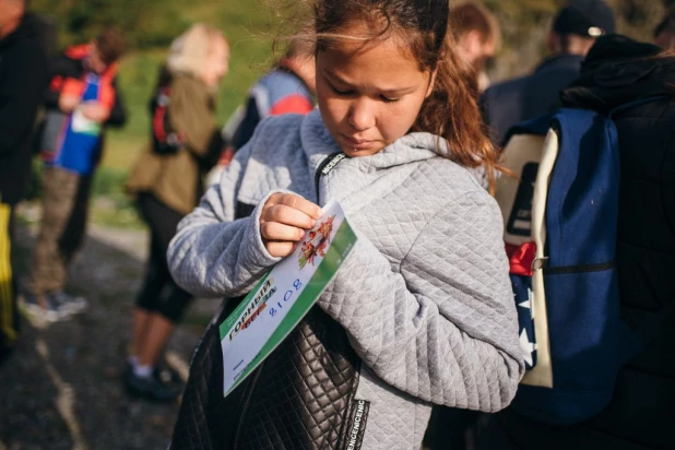
POLYGON ((0 364, 19 335, 10 235, 13 208, 28 180, 33 126, 47 84, 39 27, 24 0, 0 0, 0 364))

